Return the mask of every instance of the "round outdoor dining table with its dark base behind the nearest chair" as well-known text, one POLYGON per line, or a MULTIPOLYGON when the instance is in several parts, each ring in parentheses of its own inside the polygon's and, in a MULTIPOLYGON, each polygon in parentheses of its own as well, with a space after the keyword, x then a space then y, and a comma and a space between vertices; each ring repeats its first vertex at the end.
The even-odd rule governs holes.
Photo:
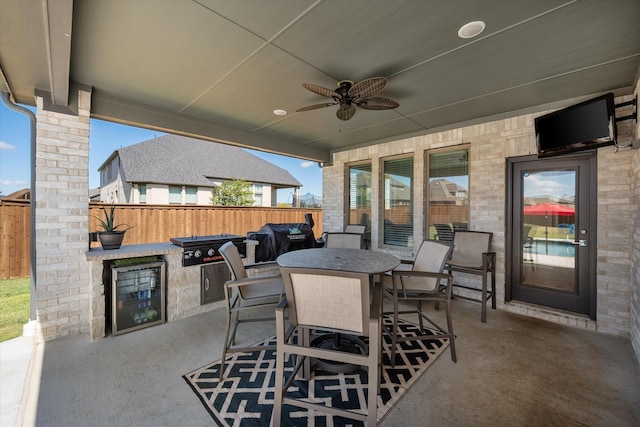
MULTIPOLYGON (((347 248, 314 248, 300 249, 280 255, 276 262, 281 267, 317 268, 325 270, 339 270, 352 273, 369 274, 373 283, 375 276, 384 274, 400 265, 400 258, 367 249, 347 248)), ((380 313, 382 315, 382 313, 380 313)), ((363 353, 366 344, 358 337, 343 336, 343 334, 320 335, 311 343, 319 347, 340 349, 352 353, 363 353)), ((355 366, 349 364, 335 364, 318 361, 319 367, 329 372, 350 372, 355 366)))

